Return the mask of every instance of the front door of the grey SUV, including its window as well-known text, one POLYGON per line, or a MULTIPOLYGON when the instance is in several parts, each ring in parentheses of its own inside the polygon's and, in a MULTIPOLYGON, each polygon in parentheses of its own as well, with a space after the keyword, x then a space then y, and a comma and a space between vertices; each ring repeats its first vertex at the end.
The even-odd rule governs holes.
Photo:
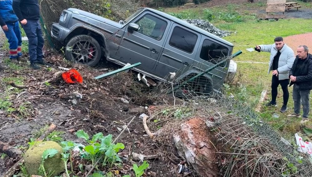
POLYGON ((116 56, 134 64, 141 62, 139 68, 153 71, 161 53, 170 26, 170 21, 150 12, 145 12, 131 23, 139 25, 138 31, 131 31, 125 26, 124 35, 116 56))

